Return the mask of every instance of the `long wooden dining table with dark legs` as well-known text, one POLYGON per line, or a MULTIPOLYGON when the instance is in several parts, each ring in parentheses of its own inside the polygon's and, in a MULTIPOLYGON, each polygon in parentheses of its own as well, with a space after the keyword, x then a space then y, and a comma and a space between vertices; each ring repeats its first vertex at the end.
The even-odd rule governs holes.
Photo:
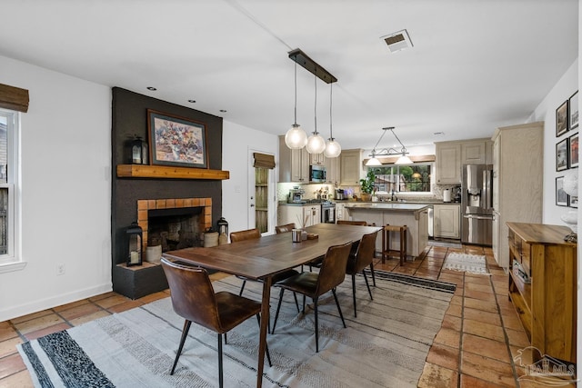
POLYGON ((272 278, 302 264, 309 264, 326 254, 333 245, 359 241, 364 234, 379 231, 376 226, 356 226, 346 224, 316 224, 306 227, 308 234, 317 238, 293 243, 291 233, 266 235, 235 244, 214 247, 192 247, 169 251, 163 254, 170 260, 195 264, 226 274, 244 276, 263 282, 261 301, 261 327, 259 333, 258 365, 256 386, 262 386, 266 351, 266 333, 269 322, 269 301, 272 278))

